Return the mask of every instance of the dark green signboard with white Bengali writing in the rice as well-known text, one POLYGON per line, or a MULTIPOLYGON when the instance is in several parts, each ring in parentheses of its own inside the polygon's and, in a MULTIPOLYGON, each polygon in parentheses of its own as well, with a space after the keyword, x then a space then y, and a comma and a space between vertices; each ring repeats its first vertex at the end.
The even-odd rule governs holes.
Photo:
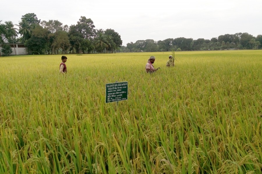
POLYGON ((106 103, 128 99, 128 82, 106 84, 106 103))

